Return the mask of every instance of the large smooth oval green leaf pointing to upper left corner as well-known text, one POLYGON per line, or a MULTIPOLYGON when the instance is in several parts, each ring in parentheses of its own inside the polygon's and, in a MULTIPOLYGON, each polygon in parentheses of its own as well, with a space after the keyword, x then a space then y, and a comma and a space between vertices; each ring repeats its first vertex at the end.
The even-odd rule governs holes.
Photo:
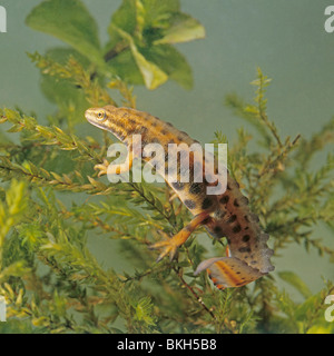
POLYGON ((26 23, 35 30, 55 36, 90 61, 102 65, 97 24, 81 1, 43 1, 32 9, 26 23))

